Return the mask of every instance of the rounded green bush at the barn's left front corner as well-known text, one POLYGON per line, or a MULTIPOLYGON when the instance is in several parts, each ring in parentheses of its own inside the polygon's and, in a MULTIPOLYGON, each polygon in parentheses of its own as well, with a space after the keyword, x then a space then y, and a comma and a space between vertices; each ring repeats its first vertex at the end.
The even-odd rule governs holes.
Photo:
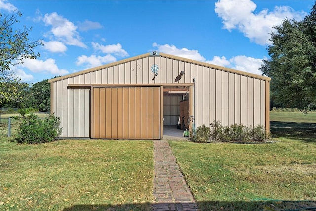
POLYGON ((18 143, 45 143, 55 140, 61 135, 60 119, 49 115, 45 119, 38 118, 35 114, 24 116, 18 128, 18 143))

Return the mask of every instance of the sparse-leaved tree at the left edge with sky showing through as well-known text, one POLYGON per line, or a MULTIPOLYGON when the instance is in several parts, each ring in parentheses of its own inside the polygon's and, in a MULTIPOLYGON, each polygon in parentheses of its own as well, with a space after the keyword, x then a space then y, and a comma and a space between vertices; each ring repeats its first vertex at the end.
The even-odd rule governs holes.
POLYGON ((23 82, 14 75, 11 67, 23 63, 24 59, 36 59, 40 56, 33 49, 42 45, 42 42, 28 39, 32 27, 23 26, 22 30, 14 27, 21 15, 19 11, 11 15, 0 13, 0 103, 9 100, 22 101, 23 92, 19 86, 23 82))

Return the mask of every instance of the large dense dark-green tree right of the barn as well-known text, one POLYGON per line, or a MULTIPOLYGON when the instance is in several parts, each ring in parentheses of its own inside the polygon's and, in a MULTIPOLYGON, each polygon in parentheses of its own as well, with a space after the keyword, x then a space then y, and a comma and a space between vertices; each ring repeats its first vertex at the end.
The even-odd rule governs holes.
POLYGON ((271 77, 271 100, 283 107, 316 104, 316 3, 303 21, 284 20, 271 33, 269 60, 262 73, 271 77))

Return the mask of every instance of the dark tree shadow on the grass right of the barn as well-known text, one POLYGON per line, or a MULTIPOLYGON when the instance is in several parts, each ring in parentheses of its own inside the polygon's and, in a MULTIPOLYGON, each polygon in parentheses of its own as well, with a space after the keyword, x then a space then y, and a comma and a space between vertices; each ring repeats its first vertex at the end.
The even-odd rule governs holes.
POLYGON ((316 123, 270 122, 272 137, 316 143, 316 123))

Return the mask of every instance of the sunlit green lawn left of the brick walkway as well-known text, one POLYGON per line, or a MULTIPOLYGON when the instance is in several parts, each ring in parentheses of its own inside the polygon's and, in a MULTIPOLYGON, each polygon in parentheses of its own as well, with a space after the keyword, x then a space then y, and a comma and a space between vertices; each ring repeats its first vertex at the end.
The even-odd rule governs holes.
POLYGON ((151 210, 151 141, 1 139, 0 210, 151 210))

